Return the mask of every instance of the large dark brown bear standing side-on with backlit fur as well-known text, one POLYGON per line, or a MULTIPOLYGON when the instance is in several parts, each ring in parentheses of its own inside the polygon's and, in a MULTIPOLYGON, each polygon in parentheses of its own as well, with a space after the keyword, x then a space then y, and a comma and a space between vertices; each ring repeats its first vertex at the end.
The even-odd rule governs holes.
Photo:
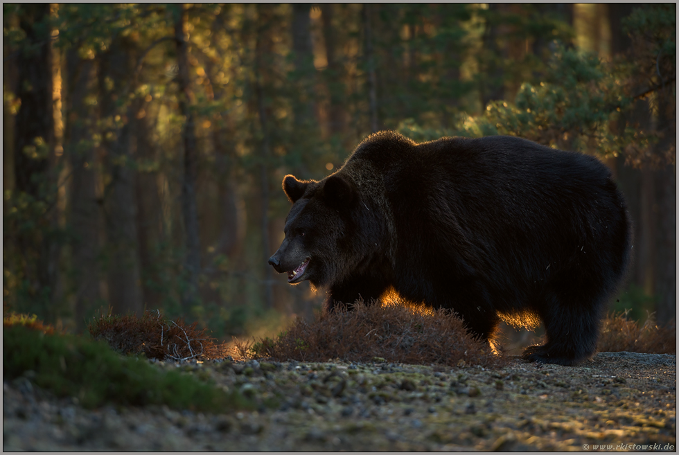
POLYGON ((290 283, 337 302, 380 298, 452 308, 491 339, 500 317, 541 319, 531 361, 594 353, 631 249, 624 199, 593 157, 509 136, 416 144, 369 136, 321 181, 283 179, 293 203, 270 259, 290 283))

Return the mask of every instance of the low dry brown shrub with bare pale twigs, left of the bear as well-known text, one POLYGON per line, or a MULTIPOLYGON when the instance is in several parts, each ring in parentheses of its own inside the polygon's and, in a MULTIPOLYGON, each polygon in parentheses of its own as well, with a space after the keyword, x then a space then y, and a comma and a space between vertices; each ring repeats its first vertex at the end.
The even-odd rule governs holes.
POLYGON ((159 310, 136 316, 106 316, 89 324, 94 339, 103 339, 120 353, 143 353, 159 360, 215 359, 224 357, 226 348, 217 339, 186 325, 184 319, 170 321, 159 310))

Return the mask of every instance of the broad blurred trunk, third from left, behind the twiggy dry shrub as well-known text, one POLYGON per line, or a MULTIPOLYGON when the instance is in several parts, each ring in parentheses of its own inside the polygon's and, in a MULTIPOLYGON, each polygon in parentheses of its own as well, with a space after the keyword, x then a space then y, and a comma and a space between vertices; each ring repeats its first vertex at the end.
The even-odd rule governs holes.
POLYGON ((127 109, 116 107, 117 100, 127 96, 125 81, 134 71, 133 55, 134 44, 129 38, 114 37, 109 49, 100 56, 98 81, 100 115, 105 125, 109 125, 102 142, 107 153, 107 171, 111 176, 104 201, 109 305, 115 314, 141 315, 143 301, 136 231, 135 175, 130 165, 130 118, 134 109, 132 103, 127 109))

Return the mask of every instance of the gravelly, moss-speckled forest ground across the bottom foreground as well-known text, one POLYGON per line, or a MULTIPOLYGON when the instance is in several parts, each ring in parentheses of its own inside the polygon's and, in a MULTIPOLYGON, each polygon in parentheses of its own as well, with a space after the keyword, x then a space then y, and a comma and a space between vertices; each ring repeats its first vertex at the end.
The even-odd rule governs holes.
MULTIPOLYGON (((376 359, 379 360, 379 359, 376 359)), ((257 411, 87 410, 26 377, 3 382, 3 451, 676 450, 676 356, 581 366, 344 362, 172 364, 238 388, 257 411)))

